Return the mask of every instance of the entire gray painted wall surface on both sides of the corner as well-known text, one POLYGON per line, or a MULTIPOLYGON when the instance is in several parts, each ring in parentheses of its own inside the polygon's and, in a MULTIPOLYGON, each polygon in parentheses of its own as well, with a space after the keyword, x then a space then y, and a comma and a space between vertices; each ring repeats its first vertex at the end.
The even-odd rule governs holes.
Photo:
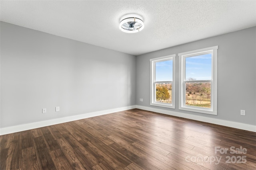
POLYGON ((256 27, 137 57, 4 22, 0 38, 1 128, 135 104, 256 125, 256 27), (178 57, 176 109, 150 106, 150 59, 215 45, 218 115, 178 109, 178 57))

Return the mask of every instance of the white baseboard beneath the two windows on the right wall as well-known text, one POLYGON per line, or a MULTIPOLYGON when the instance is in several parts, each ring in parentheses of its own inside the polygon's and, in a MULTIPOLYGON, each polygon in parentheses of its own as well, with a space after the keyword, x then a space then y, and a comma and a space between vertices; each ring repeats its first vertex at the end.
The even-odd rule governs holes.
POLYGON ((183 118, 187 118, 187 119, 203 121, 203 122, 212 123, 212 124, 216 124, 216 125, 222 125, 222 126, 227 126, 227 127, 233 127, 236 129, 242 129, 242 130, 246 130, 246 131, 256 132, 256 125, 248 125, 245 123, 238 123, 238 122, 234 122, 234 121, 214 119, 214 118, 210 118, 210 117, 191 115, 191 114, 180 113, 180 112, 176 112, 176 111, 156 109, 156 108, 152 108, 152 107, 145 107, 145 106, 138 106, 138 105, 136 106, 136 108, 142 109, 142 110, 147 110, 147 111, 154 111, 154 112, 162 113, 162 114, 166 114, 166 115, 183 117, 183 118))

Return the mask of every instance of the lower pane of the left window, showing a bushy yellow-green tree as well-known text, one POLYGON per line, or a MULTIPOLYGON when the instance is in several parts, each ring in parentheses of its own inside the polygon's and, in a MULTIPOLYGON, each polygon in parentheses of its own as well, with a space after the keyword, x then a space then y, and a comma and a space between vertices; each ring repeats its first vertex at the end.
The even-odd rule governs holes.
POLYGON ((172 104, 172 83, 156 83, 156 102, 172 104))

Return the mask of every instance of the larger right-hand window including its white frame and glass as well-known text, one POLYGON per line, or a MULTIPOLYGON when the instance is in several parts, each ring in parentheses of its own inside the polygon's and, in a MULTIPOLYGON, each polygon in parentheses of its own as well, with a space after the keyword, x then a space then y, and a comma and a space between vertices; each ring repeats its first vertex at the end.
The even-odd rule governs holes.
POLYGON ((179 109, 217 115, 218 46, 179 56, 179 109))

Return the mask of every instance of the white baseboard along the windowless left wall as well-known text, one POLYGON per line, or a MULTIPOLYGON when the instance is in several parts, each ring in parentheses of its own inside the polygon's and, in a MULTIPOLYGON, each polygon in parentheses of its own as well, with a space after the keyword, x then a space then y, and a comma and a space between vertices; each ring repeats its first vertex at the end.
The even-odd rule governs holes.
POLYGON ((26 130, 30 130, 30 129, 36 129, 36 128, 39 128, 39 127, 56 125, 56 124, 59 124, 59 123, 66 123, 66 122, 69 122, 69 121, 75 121, 75 120, 85 119, 85 118, 89 118, 89 117, 106 115, 106 114, 109 114, 109 113, 115 113, 115 112, 118 112, 118 111, 124 111, 124 110, 135 109, 135 108, 136 108, 135 105, 134 106, 127 106, 127 107, 120 107, 120 108, 116 108, 116 109, 96 111, 96 112, 85 113, 85 114, 81 114, 81 115, 62 117, 62 118, 58 118, 58 119, 51 119, 51 120, 39 121, 39 122, 28 123, 28 124, 23 124, 23 125, 4 127, 4 128, 0 129, 0 135, 6 135, 6 134, 9 134, 9 133, 15 133, 15 132, 26 131, 26 130))

